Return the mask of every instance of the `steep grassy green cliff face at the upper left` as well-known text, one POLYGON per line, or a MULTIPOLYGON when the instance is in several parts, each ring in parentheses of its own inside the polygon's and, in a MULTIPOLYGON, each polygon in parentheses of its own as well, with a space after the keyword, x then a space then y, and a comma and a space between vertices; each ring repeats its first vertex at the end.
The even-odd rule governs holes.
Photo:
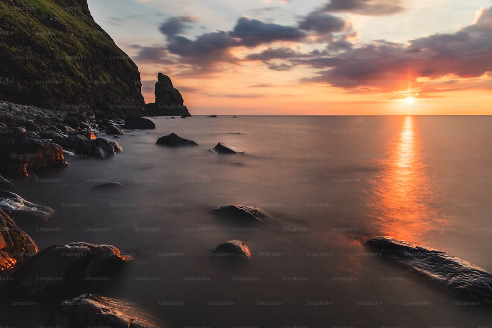
POLYGON ((0 0, 0 99, 49 109, 143 114, 135 63, 86 0, 0 0))

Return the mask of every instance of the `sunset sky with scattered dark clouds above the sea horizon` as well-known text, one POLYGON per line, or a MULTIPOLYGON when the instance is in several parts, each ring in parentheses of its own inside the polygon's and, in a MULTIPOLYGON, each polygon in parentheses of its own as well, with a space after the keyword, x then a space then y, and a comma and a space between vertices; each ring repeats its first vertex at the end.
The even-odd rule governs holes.
POLYGON ((492 0, 88 0, 192 115, 492 115, 492 0))

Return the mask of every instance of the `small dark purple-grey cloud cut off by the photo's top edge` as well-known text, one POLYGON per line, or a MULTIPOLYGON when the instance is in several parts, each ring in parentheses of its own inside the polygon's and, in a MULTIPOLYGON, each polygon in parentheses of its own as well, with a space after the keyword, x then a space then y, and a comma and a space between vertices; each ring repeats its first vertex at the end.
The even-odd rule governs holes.
POLYGON ((323 11, 351 12, 359 15, 390 15, 404 10, 402 0, 331 0, 323 11))

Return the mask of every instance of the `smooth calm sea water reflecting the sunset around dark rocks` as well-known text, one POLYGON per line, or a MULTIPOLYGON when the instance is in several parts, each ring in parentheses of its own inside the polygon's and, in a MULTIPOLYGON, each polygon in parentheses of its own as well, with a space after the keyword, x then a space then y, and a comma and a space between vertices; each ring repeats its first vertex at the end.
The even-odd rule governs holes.
MULTIPOLYGON (((134 255, 106 296, 170 327, 492 325, 490 308, 462 305, 365 245, 389 235, 492 270, 491 117, 153 120, 155 130, 117 139, 124 152, 115 158, 67 158, 63 172, 19 185, 57 210, 22 226, 40 249, 87 241, 134 255), (199 146, 155 145, 171 132, 199 146), (217 142, 246 154, 217 157, 208 152, 217 142), (126 189, 91 191, 107 181, 126 189), (261 207, 277 224, 250 231, 209 213, 226 204, 261 207), (228 239, 250 247, 246 265, 209 257, 228 239)), ((11 311, 14 327, 49 315, 26 310, 11 311)))

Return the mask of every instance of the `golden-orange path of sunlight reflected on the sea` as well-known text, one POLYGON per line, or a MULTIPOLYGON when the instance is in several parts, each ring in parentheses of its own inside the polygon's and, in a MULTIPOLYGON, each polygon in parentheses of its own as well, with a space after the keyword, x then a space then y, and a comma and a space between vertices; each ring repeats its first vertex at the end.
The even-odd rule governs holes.
POLYGON ((433 190, 425 170, 426 157, 414 118, 407 116, 400 132, 390 140, 381 173, 373 181, 371 219, 382 235, 415 242, 439 224, 431 207, 433 190))

